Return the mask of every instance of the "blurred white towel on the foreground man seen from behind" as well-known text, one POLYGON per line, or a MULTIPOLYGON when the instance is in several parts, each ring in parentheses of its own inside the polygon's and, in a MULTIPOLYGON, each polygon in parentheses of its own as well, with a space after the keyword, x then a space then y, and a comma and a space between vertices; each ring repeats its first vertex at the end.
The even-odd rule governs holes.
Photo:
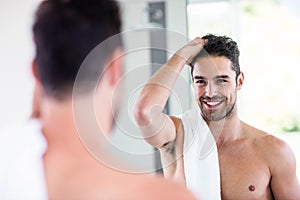
POLYGON ((0 199, 47 199, 43 154, 46 141, 37 120, 0 130, 0 199))

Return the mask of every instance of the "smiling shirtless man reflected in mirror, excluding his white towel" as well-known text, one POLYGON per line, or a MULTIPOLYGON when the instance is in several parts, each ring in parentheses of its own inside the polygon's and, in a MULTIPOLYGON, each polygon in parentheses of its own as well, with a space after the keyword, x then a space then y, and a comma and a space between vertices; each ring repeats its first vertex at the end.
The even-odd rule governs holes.
POLYGON ((185 184, 183 122, 162 110, 188 64, 199 115, 216 141, 222 199, 300 199, 295 157, 289 146, 238 117, 237 91, 244 81, 238 56, 238 47, 230 38, 195 38, 144 86, 135 106, 136 121, 146 141, 160 150, 164 175, 185 184), (172 160, 171 165, 164 165, 172 160))

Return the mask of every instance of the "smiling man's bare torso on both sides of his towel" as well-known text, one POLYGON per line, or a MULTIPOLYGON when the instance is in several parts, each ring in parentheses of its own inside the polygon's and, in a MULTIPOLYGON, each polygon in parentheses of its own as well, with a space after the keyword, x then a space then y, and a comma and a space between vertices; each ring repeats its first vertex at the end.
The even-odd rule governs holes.
MULTIPOLYGON (((177 128, 177 138, 160 150, 161 159, 165 177, 185 184, 184 130, 181 121, 176 123, 180 127, 177 128)), ((271 173, 262 153, 266 150, 264 140, 268 136, 264 133, 251 135, 218 147, 222 199, 273 199, 271 173)))

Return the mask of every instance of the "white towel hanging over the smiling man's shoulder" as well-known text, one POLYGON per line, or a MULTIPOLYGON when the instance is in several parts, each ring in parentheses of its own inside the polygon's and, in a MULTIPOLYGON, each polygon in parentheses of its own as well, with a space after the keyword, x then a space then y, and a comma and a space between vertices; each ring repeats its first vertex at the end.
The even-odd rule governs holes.
POLYGON ((220 167, 216 142, 200 109, 192 109, 182 116, 184 128, 184 173, 187 188, 198 199, 221 199, 220 167))

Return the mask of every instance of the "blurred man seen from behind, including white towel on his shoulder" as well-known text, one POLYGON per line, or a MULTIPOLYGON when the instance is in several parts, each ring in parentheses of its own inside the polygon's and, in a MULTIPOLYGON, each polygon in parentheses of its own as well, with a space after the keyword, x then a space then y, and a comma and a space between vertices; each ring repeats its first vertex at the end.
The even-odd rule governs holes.
MULTIPOLYGON (((101 42, 120 33, 120 26, 118 4, 113 0, 41 2, 33 26, 32 70, 37 84, 33 101, 38 113, 32 118, 38 120, 1 131, 0 199, 194 199, 174 181, 110 168, 105 160, 93 157, 79 137, 96 132, 93 136, 99 137, 89 139, 98 141, 113 128, 116 110, 111 102, 122 76, 120 38, 100 51, 99 62, 87 71, 86 79, 79 80, 81 90, 73 99, 72 91, 84 59, 101 42), (80 119, 87 118, 82 122, 86 126, 79 130, 73 103, 89 98, 98 109, 94 112, 101 129, 85 124, 93 119, 83 112, 80 119)), ((97 148, 109 159, 106 146, 97 148)))

